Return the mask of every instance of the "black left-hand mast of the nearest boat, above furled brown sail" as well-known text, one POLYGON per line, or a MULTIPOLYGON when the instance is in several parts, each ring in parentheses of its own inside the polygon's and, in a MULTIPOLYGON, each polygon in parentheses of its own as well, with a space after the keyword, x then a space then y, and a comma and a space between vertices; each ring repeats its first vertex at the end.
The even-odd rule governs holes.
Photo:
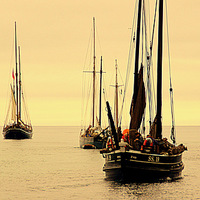
POLYGON ((137 99, 137 93, 138 93, 138 63, 139 63, 139 53, 140 53, 141 10, 142 10, 142 0, 139 0, 137 35, 136 35, 137 38, 136 38, 136 49, 135 49, 134 102, 137 99))

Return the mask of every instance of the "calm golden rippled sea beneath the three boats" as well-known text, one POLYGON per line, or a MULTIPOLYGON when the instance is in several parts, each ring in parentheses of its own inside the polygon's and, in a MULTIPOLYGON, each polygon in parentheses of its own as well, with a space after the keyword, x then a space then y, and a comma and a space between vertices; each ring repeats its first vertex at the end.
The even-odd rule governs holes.
POLYGON ((99 150, 79 148, 79 127, 34 127, 31 140, 0 137, 0 199, 200 199, 200 127, 176 130, 189 150, 183 178, 161 183, 105 180, 99 150))

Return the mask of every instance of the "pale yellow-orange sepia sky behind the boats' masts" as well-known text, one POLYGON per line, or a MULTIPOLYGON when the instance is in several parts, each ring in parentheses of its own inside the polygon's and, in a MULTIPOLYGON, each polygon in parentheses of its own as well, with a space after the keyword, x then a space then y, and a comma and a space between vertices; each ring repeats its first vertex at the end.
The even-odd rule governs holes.
MULTIPOLYGON (((167 2, 176 125, 200 125, 200 1, 167 2)), ((92 18, 96 18, 105 78, 114 76, 117 58, 125 80, 134 5, 133 0, 2 0, 0 125, 7 112, 14 66, 15 21, 32 124, 80 125, 83 65, 92 18)), ((163 108, 165 125, 170 124, 168 115, 163 108)))

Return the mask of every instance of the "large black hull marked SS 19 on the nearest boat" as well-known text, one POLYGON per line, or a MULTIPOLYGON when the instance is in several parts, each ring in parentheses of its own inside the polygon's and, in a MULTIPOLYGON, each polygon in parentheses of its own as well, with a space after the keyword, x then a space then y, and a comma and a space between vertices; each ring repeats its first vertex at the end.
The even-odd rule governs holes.
POLYGON ((140 151, 105 153, 107 179, 151 181, 179 178, 184 168, 182 154, 160 155, 140 151))

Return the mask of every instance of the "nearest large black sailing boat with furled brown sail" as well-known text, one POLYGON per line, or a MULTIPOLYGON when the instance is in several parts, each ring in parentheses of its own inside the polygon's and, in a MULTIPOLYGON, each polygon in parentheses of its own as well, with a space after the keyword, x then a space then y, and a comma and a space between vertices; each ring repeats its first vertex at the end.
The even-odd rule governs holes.
MULTIPOLYGON (((113 141, 108 144, 107 148, 102 149, 100 152, 105 158, 103 170, 105 171, 108 179, 131 181, 158 180, 166 178, 175 179, 181 176, 182 170, 184 169, 182 153, 187 148, 182 144, 178 146, 176 145, 174 138, 174 124, 172 124, 173 144, 169 143, 167 138, 162 136, 163 0, 159 0, 158 6, 159 18, 156 114, 154 121, 150 122, 150 131, 148 136, 142 137, 140 131, 140 126, 146 107, 145 84, 143 81, 143 63, 141 63, 140 70, 138 70, 140 61, 139 58, 142 57, 140 56, 140 52, 143 52, 140 51, 142 46, 140 45, 140 29, 141 24, 145 24, 145 9, 143 9, 145 7, 144 2, 144 0, 138 0, 134 92, 130 110, 131 120, 129 129, 127 131, 128 134, 121 135, 121 141, 118 140, 119 136, 116 133, 110 106, 107 102, 108 118, 112 130, 113 141)), ((145 29, 143 29, 143 32, 145 32, 145 29)), ((146 63, 148 67, 150 67, 152 59, 152 45, 150 45, 149 49, 150 54, 147 54, 146 56, 146 63)), ((172 91, 173 90, 170 84, 170 92, 172 91)))

